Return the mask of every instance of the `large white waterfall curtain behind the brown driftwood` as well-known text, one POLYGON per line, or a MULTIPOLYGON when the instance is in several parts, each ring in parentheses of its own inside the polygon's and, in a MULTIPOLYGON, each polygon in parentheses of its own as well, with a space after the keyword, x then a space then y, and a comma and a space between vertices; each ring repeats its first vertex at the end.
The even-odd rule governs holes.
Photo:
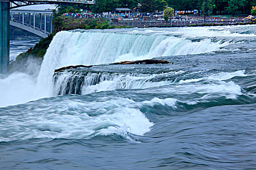
POLYGON ((159 56, 199 54, 217 51, 228 44, 229 41, 212 41, 210 38, 192 41, 158 32, 130 34, 63 31, 56 34, 44 56, 37 89, 48 91, 47 95, 50 96, 54 69, 68 65, 97 65, 159 56))

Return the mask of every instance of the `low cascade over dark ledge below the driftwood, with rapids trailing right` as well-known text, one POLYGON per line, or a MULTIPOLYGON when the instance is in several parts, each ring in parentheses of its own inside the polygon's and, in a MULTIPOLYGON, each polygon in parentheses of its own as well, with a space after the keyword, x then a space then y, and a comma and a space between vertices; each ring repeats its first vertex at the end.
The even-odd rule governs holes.
POLYGON ((227 99, 235 99, 237 95, 241 95, 241 87, 233 81, 224 81, 237 76, 247 76, 245 70, 238 70, 235 72, 219 72, 211 74, 205 72, 200 75, 201 78, 190 79, 190 77, 197 77, 197 74, 198 72, 191 73, 184 71, 171 71, 161 74, 118 74, 88 71, 60 72, 54 75, 53 94, 81 95, 98 91, 143 89, 169 85, 167 91, 174 89, 174 91, 170 93, 175 93, 178 89, 182 89, 183 91, 187 91, 188 94, 216 93, 217 95, 225 94, 227 99))

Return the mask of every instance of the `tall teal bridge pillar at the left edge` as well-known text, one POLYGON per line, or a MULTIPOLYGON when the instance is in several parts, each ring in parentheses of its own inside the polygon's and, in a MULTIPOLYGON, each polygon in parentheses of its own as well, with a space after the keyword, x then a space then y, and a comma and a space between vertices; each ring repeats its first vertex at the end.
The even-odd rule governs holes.
POLYGON ((0 1, 0 73, 5 74, 9 66, 10 51, 10 9, 9 0, 0 1))

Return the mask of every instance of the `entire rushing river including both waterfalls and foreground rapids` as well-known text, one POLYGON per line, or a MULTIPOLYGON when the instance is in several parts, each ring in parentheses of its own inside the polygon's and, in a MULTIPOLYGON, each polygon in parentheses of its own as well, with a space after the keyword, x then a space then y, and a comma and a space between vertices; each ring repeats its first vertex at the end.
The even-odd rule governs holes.
POLYGON ((256 169, 256 26, 60 32, 0 92, 2 169, 256 169))

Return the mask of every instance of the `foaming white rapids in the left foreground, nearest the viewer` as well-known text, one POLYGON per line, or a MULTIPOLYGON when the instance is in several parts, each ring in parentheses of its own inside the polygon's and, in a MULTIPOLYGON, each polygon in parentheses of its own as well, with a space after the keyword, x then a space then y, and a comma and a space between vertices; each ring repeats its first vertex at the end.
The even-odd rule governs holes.
POLYGON ((115 98, 101 102, 79 100, 38 104, 41 109, 6 113, 0 122, 0 142, 31 138, 83 138, 116 134, 133 140, 150 131, 150 122, 138 108, 126 107, 134 101, 115 98), (92 114, 92 115, 91 115, 92 114), (22 121, 20 121, 22 120, 22 121), (6 126, 7 125, 7 126, 6 126))

